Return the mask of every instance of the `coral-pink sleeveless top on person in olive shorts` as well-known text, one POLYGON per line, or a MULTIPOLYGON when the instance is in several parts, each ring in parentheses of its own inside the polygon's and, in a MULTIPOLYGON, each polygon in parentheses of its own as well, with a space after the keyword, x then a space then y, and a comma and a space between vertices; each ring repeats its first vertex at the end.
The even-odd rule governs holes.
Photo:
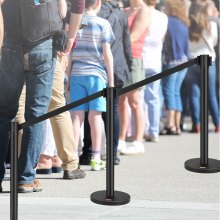
MULTIPOLYGON (((127 11, 127 10, 125 10, 125 11, 127 11)), ((129 15, 129 17, 128 17, 128 26, 129 26, 130 32, 132 30, 132 26, 135 22, 135 18, 136 18, 136 15, 137 15, 138 12, 139 11, 129 15)), ((147 32, 148 32, 148 29, 146 28, 146 30, 142 33, 140 38, 137 41, 135 41, 131 44, 131 52, 132 52, 132 57, 133 58, 141 58, 142 59, 142 51, 143 51, 143 47, 144 47, 144 40, 145 40, 145 37, 147 35, 147 32)))

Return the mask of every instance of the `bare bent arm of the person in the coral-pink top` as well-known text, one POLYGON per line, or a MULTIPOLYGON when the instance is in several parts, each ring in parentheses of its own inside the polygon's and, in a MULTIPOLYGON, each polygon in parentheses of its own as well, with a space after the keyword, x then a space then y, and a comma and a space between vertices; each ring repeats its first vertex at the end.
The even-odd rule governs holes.
POLYGON ((131 43, 137 41, 150 24, 150 9, 143 6, 137 13, 131 29, 131 43))

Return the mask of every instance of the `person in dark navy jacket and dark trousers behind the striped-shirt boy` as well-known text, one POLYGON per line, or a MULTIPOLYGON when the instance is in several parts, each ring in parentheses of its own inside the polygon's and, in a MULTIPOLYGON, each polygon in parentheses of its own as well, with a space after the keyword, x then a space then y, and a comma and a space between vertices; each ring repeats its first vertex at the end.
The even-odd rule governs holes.
MULTIPOLYGON (((111 50, 114 57, 114 82, 116 88, 122 88, 131 81, 131 42, 130 32, 128 28, 128 19, 126 14, 120 10, 118 1, 103 0, 101 10, 98 16, 110 22, 115 41, 111 44, 111 50)), ((88 115, 86 114, 86 117, 88 115)), ((80 164, 90 164, 90 147, 91 135, 88 119, 85 117, 84 121, 84 147, 83 154, 80 156, 80 164)), ((106 113, 102 113, 102 119, 106 127, 106 113)), ((119 116, 118 116, 118 97, 114 103, 114 164, 119 165, 120 159, 117 156, 119 139, 119 116)))

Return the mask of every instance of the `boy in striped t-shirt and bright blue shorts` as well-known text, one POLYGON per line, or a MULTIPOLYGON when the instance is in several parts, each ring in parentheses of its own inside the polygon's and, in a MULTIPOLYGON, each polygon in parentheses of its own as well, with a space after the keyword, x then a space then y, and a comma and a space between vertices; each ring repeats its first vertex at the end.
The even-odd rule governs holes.
MULTIPOLYGON (((71 102, 103 90, 106 84, 114 87, 111 43, 115 37, 109 22, 97 16, 100 8, 101 0, 86 0, 87 26, 77 34, 76 46, 69 56, 67 68, 67 75, 70 77, 71 102)), ((88 119, 91 127, 91 170, 102 170, 105 169, 105 162, 100 158, 102 112, 106 111, 104 97, 71 110, 76 146, 79 143, 80 127, 84 121, 85 111, 89 112, 88 119)))

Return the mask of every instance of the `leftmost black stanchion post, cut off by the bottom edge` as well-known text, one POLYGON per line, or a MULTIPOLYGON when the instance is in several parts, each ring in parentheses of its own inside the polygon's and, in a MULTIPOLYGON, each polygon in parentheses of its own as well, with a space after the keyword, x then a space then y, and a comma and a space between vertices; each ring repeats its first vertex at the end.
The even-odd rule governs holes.
POLYGON ((18 161, 18 123, 11 122, 10 158, 10 220, 18 219, 17 161, 18 161))

